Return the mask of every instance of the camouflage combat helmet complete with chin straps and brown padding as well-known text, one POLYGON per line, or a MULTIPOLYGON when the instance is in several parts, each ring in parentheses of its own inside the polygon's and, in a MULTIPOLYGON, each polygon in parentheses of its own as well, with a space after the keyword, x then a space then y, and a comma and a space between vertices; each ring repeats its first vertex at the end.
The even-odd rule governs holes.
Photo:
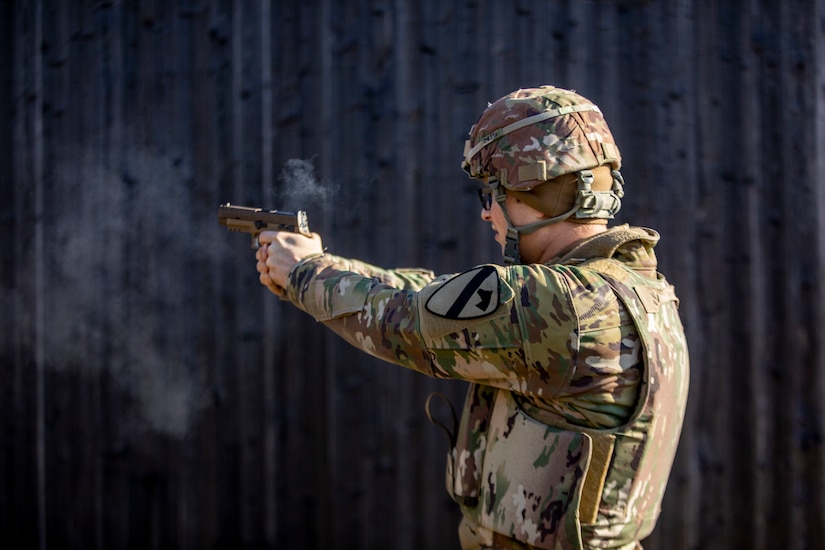
POLYGON ((561 221, 606 224, 624 195, 621 155, 602 112, 554 86, 517 90, 490 104, 470 128, 461 167, 483 179, 501 205, 510 264, 520 261, 521 235, 561 221), (507 195, 545 217, 514 226, 507 195))

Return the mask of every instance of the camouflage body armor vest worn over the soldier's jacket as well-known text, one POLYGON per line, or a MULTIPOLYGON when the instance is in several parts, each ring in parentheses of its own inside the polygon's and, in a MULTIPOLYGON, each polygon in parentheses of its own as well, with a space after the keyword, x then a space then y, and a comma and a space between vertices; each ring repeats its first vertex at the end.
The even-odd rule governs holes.
POLYGON ((580 267, 610 284, 642 342, 633 415, 619 428, 588 429, 510 391, 473 384, 447 460, 447 489, 470 520, 537 548, 632 548, 656 524, 676 453, 687 345, 663 278, 609 259, 580 267))

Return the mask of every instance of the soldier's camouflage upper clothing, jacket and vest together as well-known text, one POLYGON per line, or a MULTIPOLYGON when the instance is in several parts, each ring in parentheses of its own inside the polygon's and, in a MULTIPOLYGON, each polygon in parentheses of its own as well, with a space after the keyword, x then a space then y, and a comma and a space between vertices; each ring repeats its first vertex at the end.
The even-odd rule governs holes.
POLYGON ((658 239, 622 225, 545 265, 440 277, 324 254, 292 270, 287 297, 371 355, 472 383, 447 464, 466 518, 512 548, 633 548, 655 526, 688 386, 658 239))

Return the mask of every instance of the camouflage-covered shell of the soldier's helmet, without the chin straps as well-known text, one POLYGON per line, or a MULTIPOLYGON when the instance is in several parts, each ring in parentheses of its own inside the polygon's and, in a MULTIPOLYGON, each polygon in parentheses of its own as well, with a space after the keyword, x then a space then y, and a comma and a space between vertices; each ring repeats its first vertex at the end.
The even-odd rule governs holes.
POLYGON ((603 165, 621 167, 619 149, 599 108, 574 91, 554 86, 517 90, 495 101, 469 137, 464 171, 515 191, 603 165))

